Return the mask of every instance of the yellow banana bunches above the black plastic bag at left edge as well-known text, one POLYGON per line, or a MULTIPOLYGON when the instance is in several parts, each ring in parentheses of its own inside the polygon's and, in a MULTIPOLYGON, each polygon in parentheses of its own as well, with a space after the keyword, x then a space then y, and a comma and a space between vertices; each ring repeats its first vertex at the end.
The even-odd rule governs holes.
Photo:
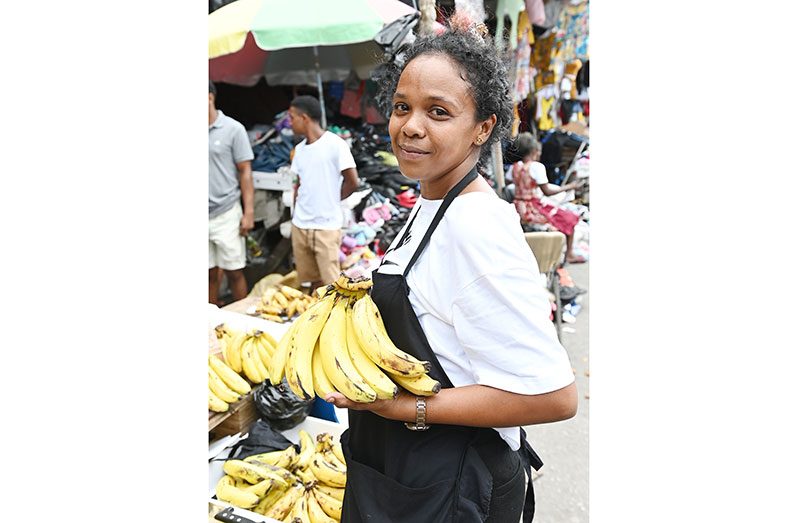
POLYGON ((250 384, 268 377, 277 341, 261 330, 238 331, 224 324, 216 327, 216 335, 222 358, 208 356, 208 408, 226 412, 252 389, 250 384))

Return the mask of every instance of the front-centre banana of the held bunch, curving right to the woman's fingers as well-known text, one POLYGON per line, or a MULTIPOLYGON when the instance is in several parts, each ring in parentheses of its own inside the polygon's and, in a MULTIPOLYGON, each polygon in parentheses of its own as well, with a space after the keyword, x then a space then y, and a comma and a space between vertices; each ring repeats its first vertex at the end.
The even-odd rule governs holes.
MULTIPOLYGON (((327 299, 329 297, 325 298, 327 299)), ((363 381, 349 357, 346 347, 346 304, 347 300, 344 298, 337 300, 321 331, 321 363, 327 378, 341 394, 352 401, 369 403, 377 399, 377 394, 363 381)))

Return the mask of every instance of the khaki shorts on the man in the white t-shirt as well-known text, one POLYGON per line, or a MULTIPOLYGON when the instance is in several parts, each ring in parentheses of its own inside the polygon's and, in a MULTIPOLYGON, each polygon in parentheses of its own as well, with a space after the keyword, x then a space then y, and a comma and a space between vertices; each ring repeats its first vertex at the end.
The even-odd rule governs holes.
POLYGON ((338 253, 341 230, 300 229, 291 224, 291 247, 294 249, 296 272, 301 282, 320 281, 327 285, 341 273, 338 253))

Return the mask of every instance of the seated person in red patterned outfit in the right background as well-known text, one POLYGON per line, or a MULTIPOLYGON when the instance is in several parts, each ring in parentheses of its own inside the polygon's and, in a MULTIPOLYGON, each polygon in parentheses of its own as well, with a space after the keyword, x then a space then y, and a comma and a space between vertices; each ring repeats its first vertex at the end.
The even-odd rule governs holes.
POLYGON ((531 133, 521 133, 515 145, 521 160, 513 164, 513 183, 515 184, 515 209, 521 222, 529 224, 549 224, 565 234, 565 261, 583 263, 585 259, 573 252, 574 227, 579 223, 579 215, 563 209, 543 199, 571 189, 578 189, 583 182, 576 181, 563 186, 549 183, 546 167, 540 163, 541 146, 531 133))

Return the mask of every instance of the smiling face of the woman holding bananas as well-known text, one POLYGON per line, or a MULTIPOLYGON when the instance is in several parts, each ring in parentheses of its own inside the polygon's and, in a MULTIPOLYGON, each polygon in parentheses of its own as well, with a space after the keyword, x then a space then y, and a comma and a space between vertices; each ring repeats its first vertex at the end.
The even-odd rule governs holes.
POLYGON ((496 117, 476 121, 476 105, 459 66, 445 55, 414 58, 399 77, 388 124, 402 174, 422 195, 442 198, 479 159, 496 117))

